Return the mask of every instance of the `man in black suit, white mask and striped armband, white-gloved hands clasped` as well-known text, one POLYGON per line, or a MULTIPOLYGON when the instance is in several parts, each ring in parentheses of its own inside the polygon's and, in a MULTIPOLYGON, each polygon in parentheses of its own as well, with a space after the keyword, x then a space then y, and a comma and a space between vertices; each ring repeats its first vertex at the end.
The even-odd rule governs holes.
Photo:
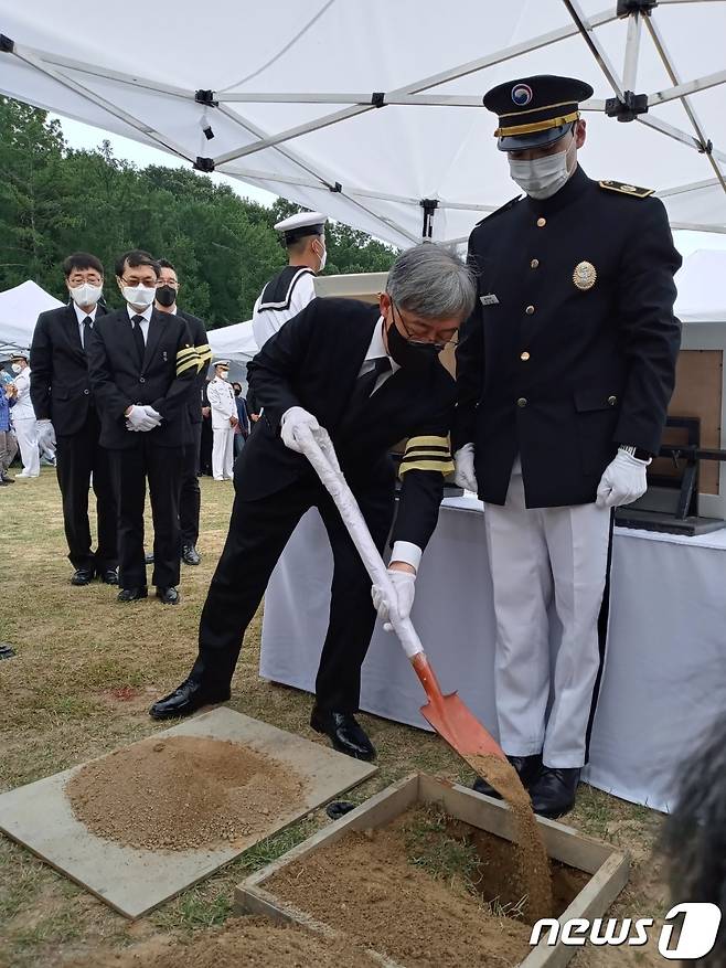
POLYGON ((110 454, 118 504, 119 602, 146 598, 143 503, 153 517, 157 597, 179 602, 179 482, 197 354, 186 320, 153 309, 159 264, 132 251, 116 264, 124 309, 99 319, 88 343, 100 443, 110 454))

